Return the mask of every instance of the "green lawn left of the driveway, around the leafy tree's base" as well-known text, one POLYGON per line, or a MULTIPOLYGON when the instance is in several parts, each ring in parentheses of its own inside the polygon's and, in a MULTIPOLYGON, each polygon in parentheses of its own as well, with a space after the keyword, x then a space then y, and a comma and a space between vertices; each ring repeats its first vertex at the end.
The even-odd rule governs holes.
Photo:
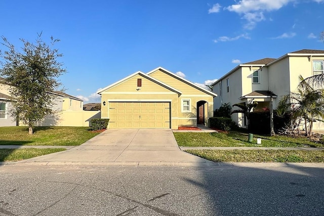
POLYGON ((0 127, 0 145, 77 146, 99 134, 89 128, 35 127, 34 134, 28 135, 25 126, 0 127))

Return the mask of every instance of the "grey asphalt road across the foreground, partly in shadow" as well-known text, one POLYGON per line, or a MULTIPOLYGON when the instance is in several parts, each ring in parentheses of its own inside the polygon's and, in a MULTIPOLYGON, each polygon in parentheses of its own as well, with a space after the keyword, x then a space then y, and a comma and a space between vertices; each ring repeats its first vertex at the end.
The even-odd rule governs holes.
POLYGON ((0 167, 0 215, 324 215, 324 168, 0 167))

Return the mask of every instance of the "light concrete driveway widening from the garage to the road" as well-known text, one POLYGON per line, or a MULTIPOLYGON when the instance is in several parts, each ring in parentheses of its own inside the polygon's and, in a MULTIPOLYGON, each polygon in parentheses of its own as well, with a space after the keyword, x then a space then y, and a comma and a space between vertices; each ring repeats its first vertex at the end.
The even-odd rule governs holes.
POLYGON ((107 129, 80 146, 22 162, 181 166, 212 163, 182 152, 171 129, 107 129))

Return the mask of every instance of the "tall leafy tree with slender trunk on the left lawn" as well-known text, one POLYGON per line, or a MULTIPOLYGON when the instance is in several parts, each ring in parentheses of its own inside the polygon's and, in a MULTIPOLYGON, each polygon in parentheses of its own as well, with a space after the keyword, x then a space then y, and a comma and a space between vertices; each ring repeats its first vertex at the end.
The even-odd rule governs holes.
POLYGON ((23 43, 22 51, 17 51, 7 38, 2 36, 1 43, 5 52, 0 52, 3 59, 0 76, 10 84, 10 94, 13 97, 13 109, 10 113, 29 127, 29 134, 33 134, 34 123, 51 114, 54 95, 61 83, 57 80, 66 72, 63 64, 57 58, 63 55, 52 47, 59 39, 51 37, 51 45, 38 34, 35 43, 20 39, 23 43))

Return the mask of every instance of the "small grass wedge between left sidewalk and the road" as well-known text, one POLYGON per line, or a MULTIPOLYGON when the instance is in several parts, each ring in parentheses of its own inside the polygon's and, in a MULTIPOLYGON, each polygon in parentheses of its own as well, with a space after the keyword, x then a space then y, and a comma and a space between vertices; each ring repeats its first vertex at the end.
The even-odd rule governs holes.
POLYGON ((0 162, 19 161, 32 157, 38 157, 46 154, 64 151, 64 148, 57 149, 0 149, 0 162))

